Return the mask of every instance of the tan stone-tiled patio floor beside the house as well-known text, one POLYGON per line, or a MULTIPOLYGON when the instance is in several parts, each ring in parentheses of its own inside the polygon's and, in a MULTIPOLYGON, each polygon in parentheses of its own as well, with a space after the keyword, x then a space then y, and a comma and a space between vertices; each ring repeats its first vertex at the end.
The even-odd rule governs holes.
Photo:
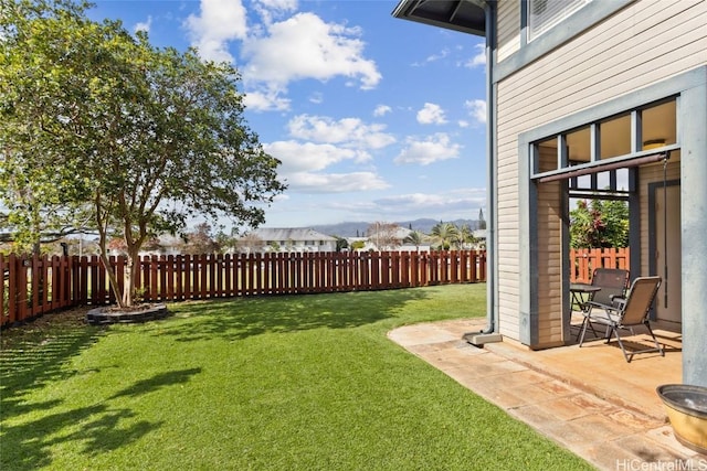
POLYGON ((626 363, 615 341, 531 351, 463 340, 485 325, 485 319, 407 325, 389 338, 599 469, 707 468, 706 456, 675 439, 655 392, 682 383, 680 334, 671 327, 653 324, 665 356, 637 354, 626 363))

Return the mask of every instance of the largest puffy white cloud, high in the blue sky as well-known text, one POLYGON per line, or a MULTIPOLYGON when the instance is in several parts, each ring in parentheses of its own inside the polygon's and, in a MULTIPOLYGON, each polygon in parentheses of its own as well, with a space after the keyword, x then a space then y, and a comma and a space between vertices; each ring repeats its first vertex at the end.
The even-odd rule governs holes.
POLYGON ((242 55, 249 61, 244 81, 282 89, 295 79, 328 81, 342 75, 357 79, 362 89, 373 88, 381 75, 376 63, 363 57, 359 35, 357 28, 297 13, 268 25, 267 35, 244 41, 242 55))

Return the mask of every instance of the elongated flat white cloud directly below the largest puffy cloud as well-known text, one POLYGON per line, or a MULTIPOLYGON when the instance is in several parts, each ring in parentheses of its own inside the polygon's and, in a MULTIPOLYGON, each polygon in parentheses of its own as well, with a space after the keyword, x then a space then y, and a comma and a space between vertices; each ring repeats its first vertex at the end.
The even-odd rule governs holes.
POLYGON ((346 147, 381 149, 395 141, 391 135, 383 132, 384 125, 367 125, 359 118, 335 121, 321 116, 299 115, 291 119, 287 127, 294 138, 346 147))

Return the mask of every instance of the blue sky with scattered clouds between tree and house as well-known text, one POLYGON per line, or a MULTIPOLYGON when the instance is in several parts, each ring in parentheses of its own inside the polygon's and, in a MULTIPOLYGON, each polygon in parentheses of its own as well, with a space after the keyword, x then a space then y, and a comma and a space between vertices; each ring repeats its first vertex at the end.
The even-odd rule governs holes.
POLYGON ((391 15, 395 0, 97 1, 152 44, 242 74, 245 118, 288 184, 265 227, 486 212, 482 38, 391 15))

